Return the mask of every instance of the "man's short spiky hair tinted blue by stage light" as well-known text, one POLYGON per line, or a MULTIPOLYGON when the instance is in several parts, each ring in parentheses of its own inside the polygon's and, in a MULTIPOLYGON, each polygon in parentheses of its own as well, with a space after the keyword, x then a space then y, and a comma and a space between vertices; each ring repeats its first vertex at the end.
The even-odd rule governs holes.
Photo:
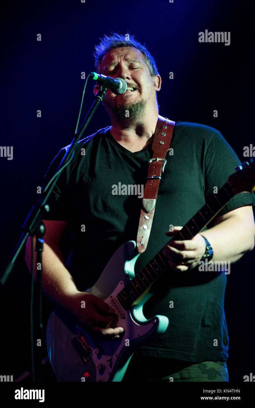
POLYGON ((147 64, 150 75, 154 77, 155 75, 159 75, 156 62, 152 55, 149 53, 148 49, 145 47, 145 44, 141 44, 141 42, 136 41, 134 39, 134 35, 126 34, 121 35, 117 33, 112 33, 111 36, 105 35, 104 38, 100 38, 101 42, 99 45, 96 45, 94 58, 95 58, 95 69, 98 73, 101 70, 101 61, 104 55, 114 49, 119 47, 134 47, 141 51, 144 56, 144 62, 147 64), (126 35, 128 35, 128 40, 126 40, 126 35))

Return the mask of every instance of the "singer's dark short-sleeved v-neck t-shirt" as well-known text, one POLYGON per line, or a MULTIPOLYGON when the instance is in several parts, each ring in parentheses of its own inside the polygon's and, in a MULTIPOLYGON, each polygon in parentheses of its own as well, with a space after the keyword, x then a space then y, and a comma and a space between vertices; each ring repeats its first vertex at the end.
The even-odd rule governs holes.
MULTIPOLYGON (((113 195, 112 186, 119 182, 144 185, 147 162, 153 157, 151 147, 152 142, 132 153, 114 140, 108 126, 78 142, 72 162, 63 170, 49 201, 51 211, 43 218, 69 221, 63 253, 79 290, 95 284, 119 246, 136 241, 141 198, 113 195)), ((135 273, 168 242, 165 233, 169 226, 185 225, 214 194, 215 186, 219 190, 240 164, 221 133, 202 124, 176 122, 171 148, 173 155, 167 156, 148 247, 138 257, 135 273)), ((51 163, 45 182, 66 149, 68 146, 51 163)), ((238 194, 217 216, 254 202, 253 193, 238 194)), ((181 273, 169 268, 154 283, 154 295, 143 307, 146 318, 167 316, 168 329, 138 353, 186 361, 226 360, 225 286, 224 272, 194 268, 181 273), (173 307, 169 307, 170 301, 173 307)))

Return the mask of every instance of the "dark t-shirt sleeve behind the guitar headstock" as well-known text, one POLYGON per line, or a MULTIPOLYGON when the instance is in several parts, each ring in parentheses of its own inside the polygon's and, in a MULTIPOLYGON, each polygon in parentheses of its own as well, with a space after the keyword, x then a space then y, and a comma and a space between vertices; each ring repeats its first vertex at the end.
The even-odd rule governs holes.
MULTIPOLYGON (((241 162, 232 147, 220 132, 216 133, 205 150, 204 171, 206 200, 214 195, 216 191, 219 191, 228 181, 228 177, 235 173, 235 167, 240 164, 241 162), (217 190, 215 187, 217 187, 217 190)), ((224 208, 217 214, 217 217, 229 211, 233 211, 236 208, 254 203, 254 193, 239 193, 229 200, 224 208)))

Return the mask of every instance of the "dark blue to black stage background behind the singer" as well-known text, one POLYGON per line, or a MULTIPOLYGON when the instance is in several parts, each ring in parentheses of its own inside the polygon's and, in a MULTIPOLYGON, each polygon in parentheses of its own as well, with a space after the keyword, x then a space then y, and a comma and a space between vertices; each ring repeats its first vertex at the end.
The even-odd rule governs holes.
MULTIPOLYGON (((94 46, 104 34, 130 33, 145 42, 162 78, 161 115, 213 126, 246 160, 243 148, 254 143, 252 15, 248 2, 233 0, 12 1, 4 6, 0 145, 13 146, 13 160, 0 157, 1 273, 47 167, 72 141, 84 86, 81 72, 94 70, 94 46), (230 31, 230 45, 199 43, 198 33, 206 29, 230 31)), ((82 118, 94 100, 93 85, 88 82, 82 118)), ((84 137, 108 125, 100 106, 84 137)), ((30 364, 31 284, 24 256, 25 251, 1 290, 0 374, 14 377, 30 364)), ((230 381, 255 374, 254 261, 255 251, 246 253, 228 275, 230 381)), ((45 302, 45 322, 48 313, 45 302)))

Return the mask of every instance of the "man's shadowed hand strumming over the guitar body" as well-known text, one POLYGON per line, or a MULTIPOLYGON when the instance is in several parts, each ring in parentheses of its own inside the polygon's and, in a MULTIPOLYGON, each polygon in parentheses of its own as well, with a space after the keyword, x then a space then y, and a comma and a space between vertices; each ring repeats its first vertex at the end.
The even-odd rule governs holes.
POLYGON ((78 292, 73 295, 69 310, 81 324, 105 338, 119 338, 119 333, 124 331, 122 327, 110 327, 114 317, 116 320, 115 311, 103 300, 89 293, 78 292), (85 302, 85 307, 81 307, 82 302, 85 302))

